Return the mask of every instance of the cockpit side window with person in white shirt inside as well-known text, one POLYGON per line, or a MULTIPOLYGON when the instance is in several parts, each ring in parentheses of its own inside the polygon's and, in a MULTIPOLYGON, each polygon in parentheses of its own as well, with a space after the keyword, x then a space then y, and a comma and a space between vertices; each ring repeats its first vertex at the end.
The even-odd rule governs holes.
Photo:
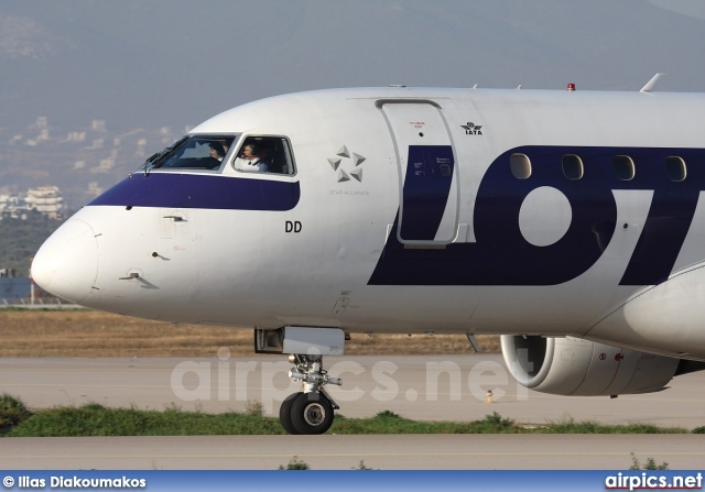
POLYGON ((232 167, 246 173, 295 174, 291 145, 284 136, 248 136, 232 158, 232 167))

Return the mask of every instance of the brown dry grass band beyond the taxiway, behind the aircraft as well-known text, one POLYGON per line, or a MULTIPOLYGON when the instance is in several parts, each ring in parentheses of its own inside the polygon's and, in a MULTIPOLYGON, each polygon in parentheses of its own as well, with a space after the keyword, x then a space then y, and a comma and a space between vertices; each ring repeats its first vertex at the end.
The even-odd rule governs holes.
MULTIPOLYGON (((174 325, 106 313, 0 310, 0 357, 232 357, 254 353, 251 329, 174 325)), ((481 350, 499 352, 499 337, 478 336, 481 350)), ((349 356, 463 354, 463 335, 352 335, 349 356)))

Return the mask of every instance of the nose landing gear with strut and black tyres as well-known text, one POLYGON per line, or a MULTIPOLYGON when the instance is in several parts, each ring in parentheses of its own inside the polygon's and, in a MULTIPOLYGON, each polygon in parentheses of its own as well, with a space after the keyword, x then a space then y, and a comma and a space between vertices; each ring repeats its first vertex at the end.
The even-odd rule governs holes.
POLYGON ((303 392, 291 394, 279 408, 279 420, 289 434, 323 434, 333 424, 333 413, 340 407, 323 389, 325 384, 340 385, 338 378, 330 378, 323 369, 322 356, 289 356, 294 369, 289 378, 302 382, 303 392))

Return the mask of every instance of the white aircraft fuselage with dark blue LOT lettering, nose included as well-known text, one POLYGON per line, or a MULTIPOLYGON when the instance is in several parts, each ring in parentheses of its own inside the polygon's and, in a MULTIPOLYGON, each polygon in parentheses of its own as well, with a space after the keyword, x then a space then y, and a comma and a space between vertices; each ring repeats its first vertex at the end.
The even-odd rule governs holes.
POLYGON ((571 335, 705 359, 703 95, 339 89, 189 135, 235 139, 217 170, 147 166, 84 207, 35 281, 171 321, 571 335), (272 135, 294 170, 232 167, 272 135))

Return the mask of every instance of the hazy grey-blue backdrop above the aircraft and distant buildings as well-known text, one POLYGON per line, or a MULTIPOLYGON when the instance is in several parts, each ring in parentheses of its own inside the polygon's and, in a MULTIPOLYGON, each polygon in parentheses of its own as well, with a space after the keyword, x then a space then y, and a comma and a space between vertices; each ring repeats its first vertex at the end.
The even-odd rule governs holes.
POLYGON ((3 0, 0 127, 195 125, 328 87, 705 90, 702 0, 3 0))

